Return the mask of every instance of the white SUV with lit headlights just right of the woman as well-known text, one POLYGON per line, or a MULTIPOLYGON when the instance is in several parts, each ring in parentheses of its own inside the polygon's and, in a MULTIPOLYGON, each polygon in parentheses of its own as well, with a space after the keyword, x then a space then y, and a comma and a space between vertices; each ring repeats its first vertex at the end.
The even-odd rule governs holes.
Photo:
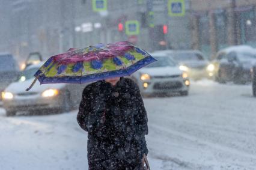
POLYGON ((190 84, 187 73, 183 73, 168 56, 154 53, 152 56, 157 59, 156 62, 132 74, 142 96, 174 93, 187 96, 190 84))

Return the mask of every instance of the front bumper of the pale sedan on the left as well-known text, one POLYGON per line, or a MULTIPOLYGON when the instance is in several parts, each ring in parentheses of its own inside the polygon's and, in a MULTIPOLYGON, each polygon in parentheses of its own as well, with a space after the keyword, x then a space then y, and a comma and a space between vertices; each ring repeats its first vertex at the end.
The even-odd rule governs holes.
POLYGON ((20 97, 13 100, 3 100, 3 107, 9 111, 33 111, 41 109, 58 109, 61 106, 62 99, 59 96, 43 98, 20 97))

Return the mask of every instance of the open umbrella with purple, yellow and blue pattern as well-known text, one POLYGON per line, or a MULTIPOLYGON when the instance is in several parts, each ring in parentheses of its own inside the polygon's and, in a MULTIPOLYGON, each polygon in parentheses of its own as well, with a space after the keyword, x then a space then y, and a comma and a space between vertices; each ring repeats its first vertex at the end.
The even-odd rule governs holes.
POLYGON ((87 83, 111 77, 130 76, 139 68, 156 61, 145 50, 128 41, 96 44, 70 49, 50 57, 34 74, 44 83, 87 83))

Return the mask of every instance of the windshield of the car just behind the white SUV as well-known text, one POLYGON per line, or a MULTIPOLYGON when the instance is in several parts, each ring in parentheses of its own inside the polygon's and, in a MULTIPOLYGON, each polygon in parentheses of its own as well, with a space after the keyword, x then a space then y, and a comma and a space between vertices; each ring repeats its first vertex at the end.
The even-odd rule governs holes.
POLYGON ((171 53, 172 58, 175 61, 201 61, 204 60, 204 57, 199 53, 193 52, 174 52, 171 53))

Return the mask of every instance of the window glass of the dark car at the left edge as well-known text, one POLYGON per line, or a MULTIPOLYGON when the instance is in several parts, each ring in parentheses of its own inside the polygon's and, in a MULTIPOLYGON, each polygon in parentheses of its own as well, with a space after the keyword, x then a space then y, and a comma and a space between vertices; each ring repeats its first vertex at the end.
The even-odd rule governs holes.
POLYGON ((16 70, 16 61, 11 55, 0 55, 0 71, 16 70))

